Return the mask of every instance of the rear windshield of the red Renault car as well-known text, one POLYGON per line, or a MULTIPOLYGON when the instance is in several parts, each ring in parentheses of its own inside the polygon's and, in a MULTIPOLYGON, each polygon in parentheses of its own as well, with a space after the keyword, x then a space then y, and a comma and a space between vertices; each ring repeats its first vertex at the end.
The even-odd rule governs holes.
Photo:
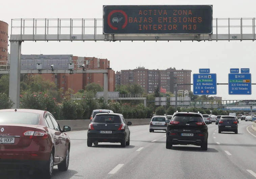
POLYGON ((28 112, 0 112, 0 124, 39 124, 40 114, 28 112))

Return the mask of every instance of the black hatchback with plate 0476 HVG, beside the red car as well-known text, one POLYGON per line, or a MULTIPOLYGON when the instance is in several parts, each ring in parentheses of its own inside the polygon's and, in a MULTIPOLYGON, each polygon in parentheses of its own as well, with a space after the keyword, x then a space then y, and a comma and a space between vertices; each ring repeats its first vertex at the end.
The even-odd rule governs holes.
POLYGON ((130 145, 130 129, 122 114, 100 113, 89 124, 87 146, 98 145, 99 142, 121 143, 121 147, 130 145))

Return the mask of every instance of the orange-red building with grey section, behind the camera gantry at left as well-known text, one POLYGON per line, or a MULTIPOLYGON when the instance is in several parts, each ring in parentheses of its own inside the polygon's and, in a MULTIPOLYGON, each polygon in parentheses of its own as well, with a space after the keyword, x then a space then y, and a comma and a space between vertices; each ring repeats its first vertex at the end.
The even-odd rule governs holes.
MULTIPOLYGON (((21 69, 36 69, 37 63, 42 63, 43 69, 63 69, 67 68, 68 62, 74 62, 74 69, 108 69, 108 91, 115 89, 115 73, 110 68, 110 61, 107 59, 99 59, 95 57, 77 57, 73 55, 21 55, 21 69)), ((57 88, 63 89, 63 94, 69 88, 78 92, 85 89, 90 83, 96 83, 103 87, 103 73, 49 73, 49 74, 31 74, 34 76, 41 75, 45 80, 54 82, 57 88)))

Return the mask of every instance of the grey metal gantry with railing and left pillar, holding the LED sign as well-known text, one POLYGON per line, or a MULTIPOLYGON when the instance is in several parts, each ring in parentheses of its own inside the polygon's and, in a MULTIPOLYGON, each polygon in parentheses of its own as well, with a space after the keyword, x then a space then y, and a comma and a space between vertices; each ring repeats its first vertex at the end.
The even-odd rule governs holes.
MULTIPOLYGON (((21 43, 23 41, 255 40, 255 18, 213 19, 215 34, 101 34, 103 26, 98 24, 103 24, 102 21, 103 19, 12 19, 9 94, 16 103, 13 108, 19 108, 20 103, 21 43)), ((104 77, 107 78, 107 73, 104 73, 104 77)), ((107 98, 107 94, 104 97, 107 98)))

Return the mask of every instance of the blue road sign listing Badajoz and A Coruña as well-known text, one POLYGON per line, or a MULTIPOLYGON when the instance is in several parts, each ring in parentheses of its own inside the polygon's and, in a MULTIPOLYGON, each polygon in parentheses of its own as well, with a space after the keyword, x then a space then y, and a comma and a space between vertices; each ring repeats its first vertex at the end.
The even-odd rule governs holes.
POLYGON ((194 95, 216 95, 217 75, 216 73, 193 74, 194 95))

